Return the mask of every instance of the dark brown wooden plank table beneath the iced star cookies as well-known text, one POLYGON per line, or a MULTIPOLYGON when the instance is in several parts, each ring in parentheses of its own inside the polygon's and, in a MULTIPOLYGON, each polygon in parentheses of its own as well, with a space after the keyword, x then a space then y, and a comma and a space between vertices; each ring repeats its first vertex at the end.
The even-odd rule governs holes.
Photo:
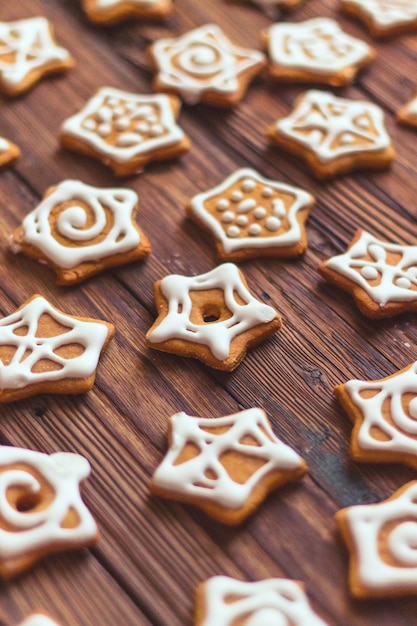
MULTIPOLYGON (((52 20, 76 66, 23 97, 1 101, 0 135, 15 141, 22 157, 0 174, 0 312, 9 315, 37 292, 68 313, 112 321, 117 331, 89 393, 43 395, 1 408, 2 444, 76 451, 89 459, 92 475, 84 499, 101 530, 92 550, 46 558, 1 583, 2 626, 15 626, 36 609, 63 626, 191 624, 196 585, 217 574, 302 580, 329 624, 416 624, 412 598, 350 597, 348 556, 334 514, 385 499, 415 472, 350 460, 351 424, 332 396, 338 383, 380 378, 413 362, 414 316, 370 322, 316 270, 320 260, 345 249, 358 227, 386 240, 415 242, 416 135, 394 116, 414 95, 415 34, 375 43, 377 58, 369 69, 353 86, 335 90, 383 107, 397 151, 389 170, 316 182, 299 160, 269 147, 264 134, 290 111, 304 86, 260 77, 233 110, 184 106, 180 123, 193 142, 191 151, 122 181, 140 196, 138 221, 152 243, 148 260, 59 288, 52 272, 9 252, 10 233, 60 180, 121 183, 98 162, 59 148, 63 120, 104 85, 149 93, 146 46, 154 39, 215 22, 236 43, 259 48, 260 31, 271 20, 249 3, 227 0, 176 0, 165 23, 130 21, 112 28, 89 25, 73 0, 20 0, 0 7, 5 21, 36 15, 52 20), (279 310, 284 324, 235 372, 225 374, 152 351, 144 337, 155 317, 154 281, 170 273, 202 273, 218 263, 208 237, 185 217, 187 199, 241 166, 303 187, 317 204, 302 259, 242 265, 253 293, 279 310), (277 435, 305 458, 304 479, 271 494, 238 528, 149 496, 150 476, 166 450, 170 415, 183 410, 215 417, 252 406, 264 408, 277 435)), ((370 41, 336 0, 310 0, 288 19, 320 15, 336 17, 349 33, 370 41)))

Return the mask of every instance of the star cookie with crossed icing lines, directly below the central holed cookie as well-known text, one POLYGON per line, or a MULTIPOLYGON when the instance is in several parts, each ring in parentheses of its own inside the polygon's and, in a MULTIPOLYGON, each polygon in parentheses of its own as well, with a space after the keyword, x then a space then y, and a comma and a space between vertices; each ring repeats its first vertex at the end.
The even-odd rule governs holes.
POLYGON ((307 471, 272 432, 261 409, 219 418, 171 417, 169 450, 151 492, 194 504, 224 524, 240 524, 272 489, 307 471))

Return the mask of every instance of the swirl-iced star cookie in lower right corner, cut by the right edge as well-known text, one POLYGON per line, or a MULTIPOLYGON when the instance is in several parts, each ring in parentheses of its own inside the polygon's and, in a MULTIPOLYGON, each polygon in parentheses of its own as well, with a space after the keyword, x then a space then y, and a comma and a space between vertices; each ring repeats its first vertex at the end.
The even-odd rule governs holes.
POLYGON ((336 514, 350 552, 349 585, 358 598, 417 593, 417 481, 379 504, 336 514))

